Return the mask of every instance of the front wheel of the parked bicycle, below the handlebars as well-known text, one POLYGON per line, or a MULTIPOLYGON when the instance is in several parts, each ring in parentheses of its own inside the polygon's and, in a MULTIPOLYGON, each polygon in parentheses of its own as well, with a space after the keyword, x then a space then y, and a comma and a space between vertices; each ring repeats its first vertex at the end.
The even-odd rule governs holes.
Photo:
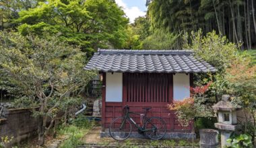
POLYGON ((131 122, 123 117, 115 118, 110 123, 109 134, 117 141, 127 139, 131 135, 131 122))

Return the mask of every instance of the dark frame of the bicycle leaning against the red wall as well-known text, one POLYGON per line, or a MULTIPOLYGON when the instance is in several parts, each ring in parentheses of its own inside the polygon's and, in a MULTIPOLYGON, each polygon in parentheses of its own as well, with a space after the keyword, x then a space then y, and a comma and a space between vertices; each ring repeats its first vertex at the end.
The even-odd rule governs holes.
MULTIPOLYGON (((138 114, 138 113, 127 111, 126 114, 125 114, 125 118, 123 118, 123 121, 122 121, 122 123, 121 123, 120 129, 123 128, 123 126, 124 126, 124 124, 125 124, 125 120, 127 119, 127 120, 131 121, 131 122, 136 126, 136 128, 138 128, 139 131, 141 131, 141 132, 152 131, 152 128, 151 128, 151 129, 145 129, 145 127, 144 127, 144 123, 147 122, 147 121, 148 121, 150 124, 152 124, 152 123, 150 122, 149 118, 146 117, 147 111, 146 111, 146 113, 145 113, 145 116, 143 116, 142 127, 138 126, 137 123, 133 120, 133 118, 131 118, 131 117, 129 116, 129 114, 137 114, 137 115, 140 116, 140 114, 138 114)), ((152 126, 154 126, 154 124, 152 124, 152 126)), ((154 126, 154 128, 156 128, 156 126, 154 126)))

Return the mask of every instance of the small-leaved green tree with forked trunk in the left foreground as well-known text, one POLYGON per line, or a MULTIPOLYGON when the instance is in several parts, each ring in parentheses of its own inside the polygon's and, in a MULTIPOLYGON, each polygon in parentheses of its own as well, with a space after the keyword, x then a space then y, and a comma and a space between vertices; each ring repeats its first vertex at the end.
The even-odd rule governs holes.
POLYGON ((0 32, 0 42, 1 73, 18 88, 19 96, 26 98, 26 102, 30 100, 29 107, 34 108, 34 116, 41 121, 38 141, 43 145, 57 114, 79 103, 79 94, 95 73, 84 71, 84 52, 56 37, 0 32))

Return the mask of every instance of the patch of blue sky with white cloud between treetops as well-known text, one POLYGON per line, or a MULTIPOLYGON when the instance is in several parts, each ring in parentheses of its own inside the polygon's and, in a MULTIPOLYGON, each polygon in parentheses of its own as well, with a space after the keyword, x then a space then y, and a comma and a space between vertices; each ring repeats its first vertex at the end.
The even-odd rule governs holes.
POLYGON ((123 8, 130 23, 133 23, 136 17, 146 15, 146 0, 115 0, 117 5, 123 8))

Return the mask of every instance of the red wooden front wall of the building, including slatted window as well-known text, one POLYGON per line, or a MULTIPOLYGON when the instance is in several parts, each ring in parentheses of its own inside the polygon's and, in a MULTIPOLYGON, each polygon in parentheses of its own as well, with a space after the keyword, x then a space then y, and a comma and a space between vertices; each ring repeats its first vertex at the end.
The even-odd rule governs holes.
MULTIPOLYGON (((193 77, 193 76, 191 76, 193 77)), ((106 75, 103 73, 102 85, 106 85, 106 75)), ((190 81, 191 85, 193 81, 190 81)), ((102 127, 108 128, 113 118, 123 116, 123 107, 130 106, 132 112, 143 113, 142 108, 152 107, 147 116, 162 117, 168 132, 189 132, 179 125, 173 111, 168 110, 167 104, 172 102, 173 97, 172 74, 159 73, 123 73, 123 102, 105 102, 105 87, 102 87, 102 127)), ((139 115, 131 117, 140 124, 139 115)))

